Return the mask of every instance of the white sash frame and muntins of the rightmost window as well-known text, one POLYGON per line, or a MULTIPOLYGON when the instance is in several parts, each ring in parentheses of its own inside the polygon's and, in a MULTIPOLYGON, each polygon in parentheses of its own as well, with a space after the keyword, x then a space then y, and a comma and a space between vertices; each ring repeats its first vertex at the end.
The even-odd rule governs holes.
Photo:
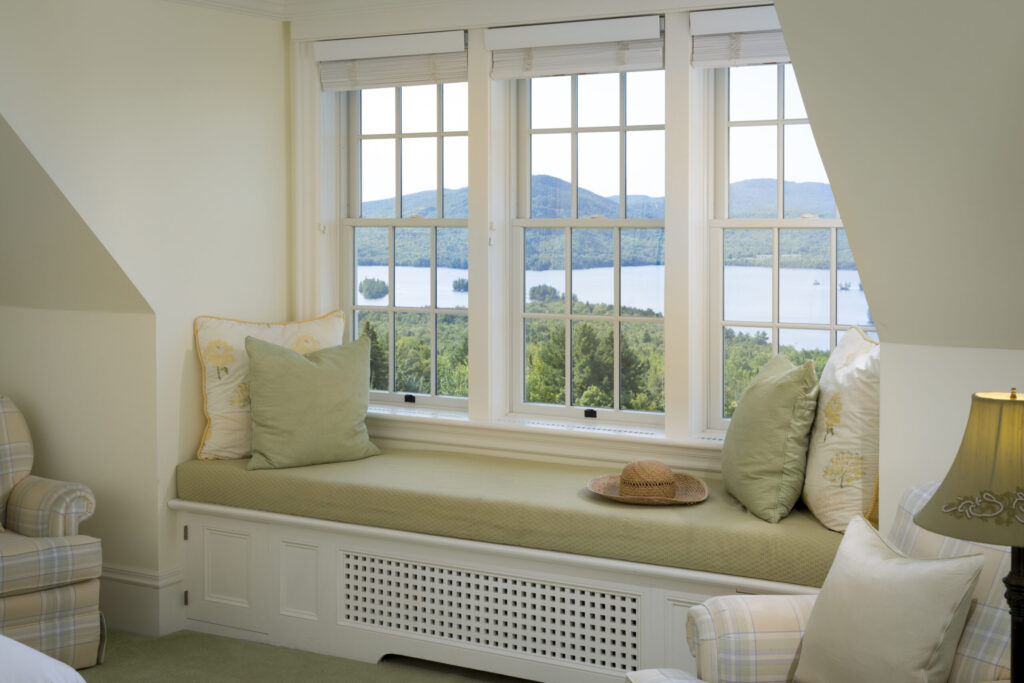
MULTIPOLYGON (((849 325, 840 325, 837 322, 838 306, 837 295, 839 283, 837 282, 837 245, 838 232, 845 229, 843 221, 839 217, 839 209, 836 211, 836 218, 782 218, 784 212, 783 189, 784 189, 784 143, 783 132, 786 125, 807 124, 804 118, 784 118, 783 97, 785 89, 783 87, 784 68, 782 63, 777 65, 777 87, 776 87, 776 117, 759 121, 742 121, 730 123, 729 116, 729 69, 722 68, 715 70, 715 115, 711 119, 709 134, 715 141, 715 211, 714 218, 708 221, 709 231, 709 258, 711 288, 711 307, 709 315, 709 348, 710 362, 708 367, 709 385, 709 405, 708 425, 711 429, 725 430, 728 428, 729 419, 723 417, 724 402, 724 344, 723 334, 725 328, 749 328, 765 330, 771 337, 771 352, 779 352, 779 331, 785 330, 820 330, 828 333, 828 349, 836 348, 839 336, 849 329, 849 325), (777 178, 777 218, 728 218, 729 214, 729 128, 742 126, 764 126, 775 125, 777 135, 776 153, 776 178, 777 178), (713 130, 713 132, 712 132, 713 130), (771 322, 750 322, 750 321, 727 321, 724 317, 724 234, 727 229, 770 229, 772 232, 772 319, 771 322), (827 229, 829 234, 829 292, 828 292, 828 322, 822 324, 802 324, 802 323, 781 323, 779 321, 779 230, 782 229, 827 229)), ((860 326, 865 332, 873 332, 871 326, 860 326)))

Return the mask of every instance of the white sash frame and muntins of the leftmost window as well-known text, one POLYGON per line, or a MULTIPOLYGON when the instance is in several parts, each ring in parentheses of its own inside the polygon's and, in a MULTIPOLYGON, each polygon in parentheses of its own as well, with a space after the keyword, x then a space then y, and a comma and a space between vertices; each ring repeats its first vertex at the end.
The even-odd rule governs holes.
MULTIPOLYGON (((443 141, 447 137, 467 137, 468 131, 444 131, 442 130, 443 121, 443 85, 442 83, 435 84, 437 89, 436 98, 436 115, 437 115, 437 130, 427 133, 403 133, 395 130, 393 133, 380 133, 380 134, 362 134, 360 130, 360 120, 359 120, 359 102, 361 97, 361 91, 353 90, 347 93, 339 94, 339 97, 344 98, 345 109, 346 109, 346 130, 345 135, 347 137, 348 143, 347 148, 349 151, 346 163, 346 177, 347 177, 347 197, 350 198, 348 202, 347 211, 342 212, 340 215, 345 216, 341 219, 341 245, 342 245, 342 266, 341 266, 341 301, 344 310, 347 313, 348 319, 351 322, 349 326, 349 338, 355 339, 359 335, 360 323, 357 319, 357 315, 360 312, 382 312, 387 315, 388 318, 388 383, 387 390, 372 389, 370 392, 370 399, 373 402, 381 403, 408 403, 415 402, 418 405, 428 405, 428 407, 439 407, 446 408, 450 410, 467 410, 467 397, 461 396, 444 396, 437 394, 437 317, 438 315, 455 314, 455 315, 466 315, 467 323, 469 319, 469 308, 438 308, 437 303, 437 259, 436 259, 436 245, 437 245, 437 229, 444 227, 469 227, 468 218, 425 218, 423 216, 409 216, 406 218, 401 216, 401 141, 404 139, 435 139, 437 144, 436 153, 436 171, 437 171, 437 207, 436 212, 440 216, 443 212, 443 141), (395 140, 394 154, 395 154, 395 217, 394 218, 358 218, 352 217, 361 213, 361 193, 359 188, 360 182, 360 162, 361 162, 361 144, 360 142, 365 139, 393 139, 395 140), (372 306, 367 304, 358 304, 355 298, 356 288, 358 283, 356 280, 356 272, 354 267, 354 257, 355 257, 355 228, 357 227, 375 227, 375 228, 386 228, 388 230, 388 295, 387 304, 382 306, 372 306), (430 230, 430 304, 429 306, 421 307, 407 307, 395 305, 395 229, 402 227, 416 227, 416 228, 426 228, 430 230), (347 274, 348 276, 344 276, 347 274), (396 313, 423 313, 430 315, 430 393, 412 393, 408 391, 396 391, 394 388, 395 381, 395 314, 396 313), (412 401, 410 401, 410 396, 412 396, 412 401)), ((395 121, 396 123, 401 121, 401 87, 395 88, 395 121)), ((468 163, 468 160, 467 160, 468 163)), ((467 246, 468 249, 468 246, 467 246)))

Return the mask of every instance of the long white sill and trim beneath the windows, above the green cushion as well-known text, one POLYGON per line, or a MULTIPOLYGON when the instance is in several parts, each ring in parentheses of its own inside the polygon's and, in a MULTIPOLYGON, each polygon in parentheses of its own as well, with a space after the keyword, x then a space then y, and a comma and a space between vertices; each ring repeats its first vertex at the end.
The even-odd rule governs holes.
POLYGON ((472 452, 561 462, 628 463, 653 459, 701 474, 721 472, 723 434, 669 438, 657 428, 507 416, 470 420, 460 411, 406 405, 370 407, 370 435, 389 449, 472 452))

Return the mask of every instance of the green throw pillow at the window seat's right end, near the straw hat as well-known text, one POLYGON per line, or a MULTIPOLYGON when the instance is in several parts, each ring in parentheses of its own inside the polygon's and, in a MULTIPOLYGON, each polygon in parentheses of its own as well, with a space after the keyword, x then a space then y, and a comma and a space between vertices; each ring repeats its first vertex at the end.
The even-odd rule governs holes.
POLYGON ((777 522, 800 499, 818 402, 810 360, 769 360, 739 397, 722 447, 725 488, 758 517, 777 522))

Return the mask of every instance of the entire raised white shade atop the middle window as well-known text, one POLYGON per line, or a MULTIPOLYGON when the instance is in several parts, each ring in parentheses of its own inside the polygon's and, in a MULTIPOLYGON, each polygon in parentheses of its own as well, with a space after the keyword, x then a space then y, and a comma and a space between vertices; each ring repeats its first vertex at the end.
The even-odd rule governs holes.
POLYGON ((488 29, 496 80, 663 69, 659 16, 488 29))

